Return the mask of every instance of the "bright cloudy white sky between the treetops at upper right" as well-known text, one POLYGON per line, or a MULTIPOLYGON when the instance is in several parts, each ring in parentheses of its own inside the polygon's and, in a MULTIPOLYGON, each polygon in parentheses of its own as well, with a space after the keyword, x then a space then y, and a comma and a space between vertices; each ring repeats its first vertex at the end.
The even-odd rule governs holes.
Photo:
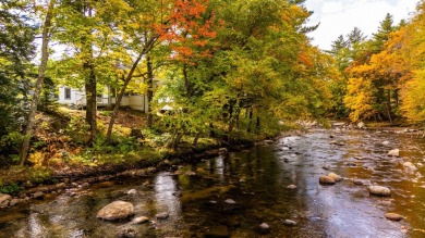
POLYGON ((387 13, 393 16, 394 24, 409 20, 417 0, 306 0, 305 7, 314 11, 307 25, 320 23, 309 33, 313 45, 329 50, 340 35, 348 35, 355 26, 365 36, 372 36, 387 13))

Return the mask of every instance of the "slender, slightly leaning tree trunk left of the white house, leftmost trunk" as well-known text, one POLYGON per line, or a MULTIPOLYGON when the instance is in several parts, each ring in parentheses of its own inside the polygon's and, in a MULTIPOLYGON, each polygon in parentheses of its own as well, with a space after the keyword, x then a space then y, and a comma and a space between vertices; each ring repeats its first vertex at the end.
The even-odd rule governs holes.
POLYGON ((37 112, 37 104, 42 89, 42 83, 45 80, 45 73, 47 67, 47 62, 49 60, 49 40, 50 40, 50 26, 51 20, 53 18, 53 8, 56 0, 51 0, 47 10, 45 24, 42 28, 42 42, 41 42, 41 62, 38 68, 38 77, 35 85, 34 96, 31 103, 29 114, 27 118, 27 124, 24 133, 24 140, 22 142, 21 151, 20 151, 20 160, 21 165, 24 165, 26 162, 26 156, 28 155, 29 150, 29 141, 33 136, 33 127, 35 123, 35 114, 37 112))

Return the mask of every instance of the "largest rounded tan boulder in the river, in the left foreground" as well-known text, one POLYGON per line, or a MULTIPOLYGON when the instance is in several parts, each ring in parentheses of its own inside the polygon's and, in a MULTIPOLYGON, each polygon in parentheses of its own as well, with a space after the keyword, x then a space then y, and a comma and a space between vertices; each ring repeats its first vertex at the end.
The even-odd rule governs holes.
POLYGON ((97 218, 101 220, 123 220, 134 214, 134 206, 130 202, 114 201, 104 206, 98 213, 97 218))

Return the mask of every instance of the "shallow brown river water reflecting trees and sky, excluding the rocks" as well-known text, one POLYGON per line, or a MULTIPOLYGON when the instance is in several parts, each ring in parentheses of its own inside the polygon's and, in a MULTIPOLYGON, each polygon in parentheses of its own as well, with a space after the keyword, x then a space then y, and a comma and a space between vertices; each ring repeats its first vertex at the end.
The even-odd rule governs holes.
POLYGON ((230 237, 425 237, 424 160, 425 139, 411 135, 317 129, 205 159, 178 173, 95 184, 74 191, 77 196, 63 192, 1 210, 0 237, 117 237, 123 229, 135 230, 136 237, 212 237, 214 233, 230 237), (384 146, 386 140, 389 145, 384 146), (400 158, 387 156, 393 148, 400 149, 400 158), (403 162, 412 162, 417 170, 403 167, 403 162), (330 172, 344 179, 333 186, 319 185, 319 176, 330 172), (367 187, 373 184, 390 188, 391 197, 369 196, 367 187), (130 189, 137 193, 127 195, 130 189), (235 203, 228 204, 227 199, 235 203), (136 216, 151 221, 132 225, 131 220, 97 220, 97 212, 116 200, 133 203, 136 216), (155 215, 161 212, 169 213, 169 218, 157 221, 155 215), (404 220, 388 221, 387 212, 404 220), (268 234, 259 233, 262 223, 270 226, 268 234))

